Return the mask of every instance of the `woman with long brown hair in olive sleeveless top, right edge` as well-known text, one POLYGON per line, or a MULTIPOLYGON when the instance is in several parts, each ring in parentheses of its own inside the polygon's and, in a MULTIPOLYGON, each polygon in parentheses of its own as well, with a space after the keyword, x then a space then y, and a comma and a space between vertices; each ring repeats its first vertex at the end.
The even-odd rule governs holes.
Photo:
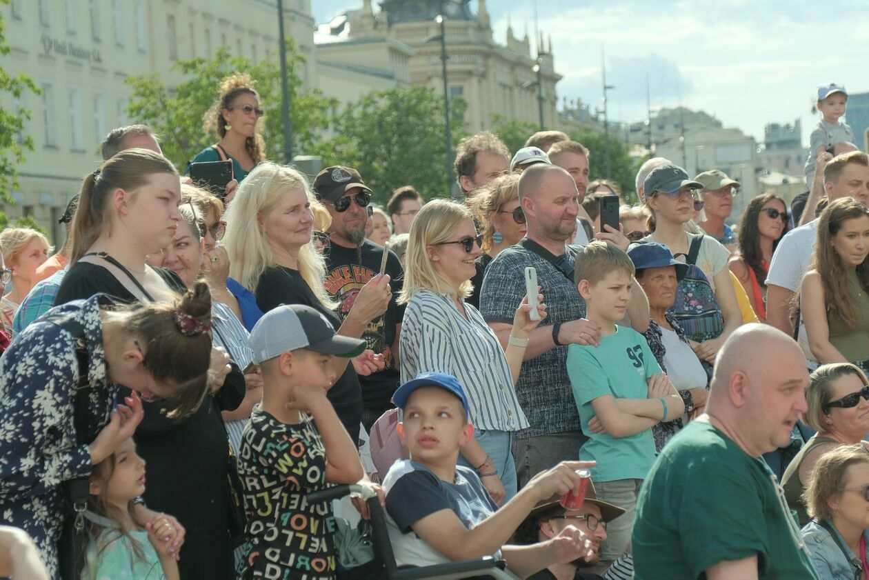
POLYGON ((869 210, 853 197, 821 213, 818 240, 799 289, 800 316, 819 363, 869 370, 869 210))

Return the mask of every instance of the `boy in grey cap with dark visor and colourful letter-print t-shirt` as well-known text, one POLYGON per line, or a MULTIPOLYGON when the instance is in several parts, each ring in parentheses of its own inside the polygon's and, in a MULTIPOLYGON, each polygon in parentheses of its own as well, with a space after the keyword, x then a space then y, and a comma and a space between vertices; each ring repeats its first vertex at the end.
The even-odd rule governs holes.
POLYGON ((355 357, 365 341, 336 336, 318 311, 293 304, 260 318, 250 347, 262 369, 262 403, 250 415, 238 457, 248 517, 238 577, 334 578, 332 504, 308 503, 306 496, 365 475, 326 398, 336 376, 333 357, 355 357))

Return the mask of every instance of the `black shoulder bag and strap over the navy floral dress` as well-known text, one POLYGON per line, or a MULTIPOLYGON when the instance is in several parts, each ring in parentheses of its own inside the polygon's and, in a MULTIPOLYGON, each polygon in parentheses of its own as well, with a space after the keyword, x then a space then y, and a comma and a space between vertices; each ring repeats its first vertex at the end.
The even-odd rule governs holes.
MULTIPOLYGON (((78 383, 72 399, 73 424, 76 428, 76 444, 87 445, 90 398, 88 377, 88 343, 84 328, 75 318, 68 315, 49 315, 43 317, 69 332, 76 341, 78 361, 78 383)), ((63 530, 57 543, 57 560, 60 577, 63 580, 79 580, 84 569, 84 553, 88 547, 88 531, 84 526, 84 510, 90 497, 90 477, 76 477, 63 483, 63 530)))

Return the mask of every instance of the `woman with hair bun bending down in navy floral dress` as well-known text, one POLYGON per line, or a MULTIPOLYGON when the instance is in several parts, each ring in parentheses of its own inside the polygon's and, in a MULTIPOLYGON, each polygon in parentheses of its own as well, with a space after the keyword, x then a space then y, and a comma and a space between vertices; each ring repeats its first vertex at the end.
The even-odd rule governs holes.
MULTIPOLYGON (((34 538, 52 577, 64 483, 86 482, 129 439, 143 419, 143 400, 172 420, 200 408, 209 393, 210 328, 204 283, 167 303, 117 307, 96 295, 56 306, 0 358, 0 523, 34 538)), ((143 505, 134 516, 142 527, 161 517, 143 505)), ((174 518, 160 522, 182 535, 174 518)), ((167 549, 176 557, 181 539, 167 549)))

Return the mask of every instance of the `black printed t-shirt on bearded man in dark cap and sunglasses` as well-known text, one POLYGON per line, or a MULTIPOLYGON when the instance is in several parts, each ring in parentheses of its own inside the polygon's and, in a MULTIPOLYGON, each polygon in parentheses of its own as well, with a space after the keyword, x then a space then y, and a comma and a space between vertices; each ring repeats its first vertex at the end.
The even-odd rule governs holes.
MULTIPOLYGON (((383 246, 368 240, 364 240, 359 249, 330 243, 323 250, 323 254, 326 257, 326 291, 329 296, 341 303, 338 315, 343 320, 353 307, 362 286, 380 271, 383 246)), ((389 301, 386 313, 368 323, 368 328, 362 333, 368 348, 374 350, 376 354, 382 354, 386 362, 383 370, 368 377, 359 377, 359 383, 362 385, 362 404, 370 410, 386 410, 391 407, 389 400, 400 380, 392 348, 393 344, 398 347, 398 343, 395 342, 395 330, 404 317, 404 305, 395 302, 404 283, 404 270, 401 270, 401 262, 391 250, 386 262, 386 273, 389 275, 392 299, 389 301)))

